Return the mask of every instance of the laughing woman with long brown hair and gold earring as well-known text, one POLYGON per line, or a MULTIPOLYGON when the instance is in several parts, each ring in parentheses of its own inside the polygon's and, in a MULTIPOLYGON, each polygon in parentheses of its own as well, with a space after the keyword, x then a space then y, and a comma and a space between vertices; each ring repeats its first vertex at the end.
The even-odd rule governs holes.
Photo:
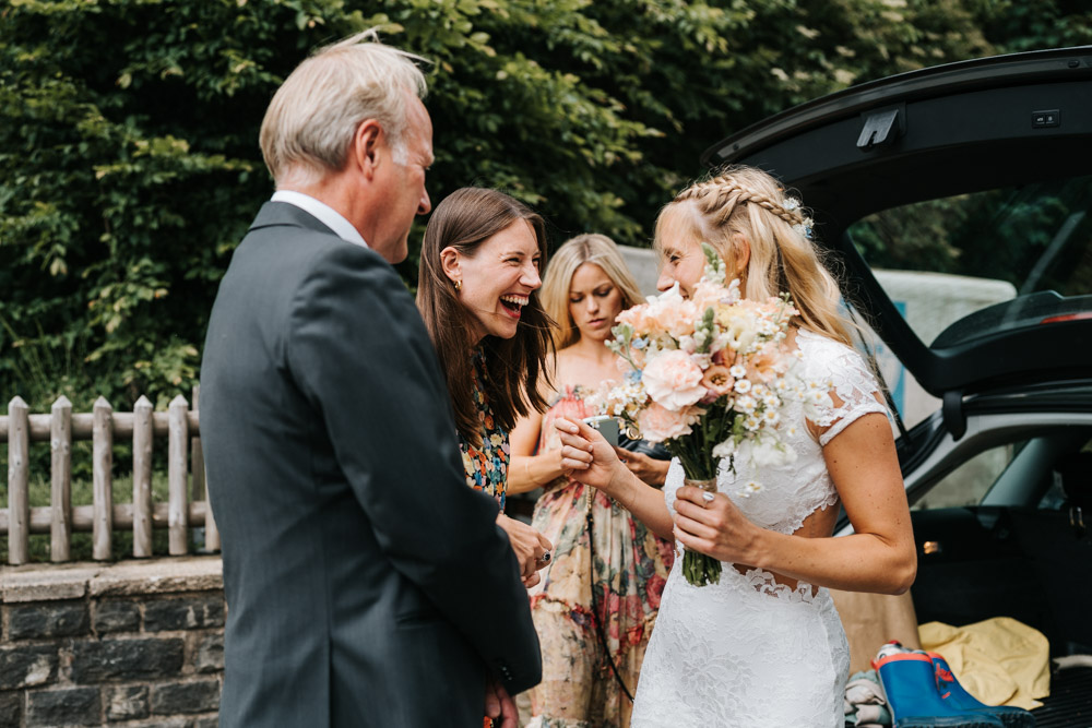
POLYGON ((497 499, 524 584, 538 582, 550 544, 505 515, 508 432, 546 408, 534 386, 551 353, 538 301, 546 260, 543 219, 518 200, 463 188, 437 205, 425 229, 417 308, 448 382, 466 484, 497 499))

